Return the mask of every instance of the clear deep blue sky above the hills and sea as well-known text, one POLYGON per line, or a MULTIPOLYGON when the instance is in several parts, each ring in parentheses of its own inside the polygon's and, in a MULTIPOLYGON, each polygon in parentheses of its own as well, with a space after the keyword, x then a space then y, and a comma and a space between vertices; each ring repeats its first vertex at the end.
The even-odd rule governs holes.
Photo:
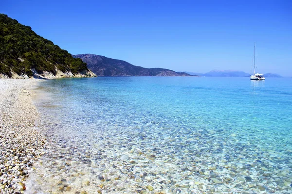
POLYGON ((292 76, 292 0, 1 0, 0 13, 72 54, 143 67, 292 76))

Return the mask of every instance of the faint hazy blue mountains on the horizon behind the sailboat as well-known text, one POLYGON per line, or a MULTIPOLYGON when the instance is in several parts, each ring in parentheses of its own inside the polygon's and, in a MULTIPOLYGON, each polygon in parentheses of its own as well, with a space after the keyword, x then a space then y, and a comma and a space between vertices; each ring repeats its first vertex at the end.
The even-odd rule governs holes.
MULTIPOLYGON (((186 72, 190 75, 206 76, 206 77, 249 77, 251 74, 237 70, 212 70, 207 73, 186 72)), ((281 78, 282 76, 275 73, 266 73, 264 77, 281 78)))

